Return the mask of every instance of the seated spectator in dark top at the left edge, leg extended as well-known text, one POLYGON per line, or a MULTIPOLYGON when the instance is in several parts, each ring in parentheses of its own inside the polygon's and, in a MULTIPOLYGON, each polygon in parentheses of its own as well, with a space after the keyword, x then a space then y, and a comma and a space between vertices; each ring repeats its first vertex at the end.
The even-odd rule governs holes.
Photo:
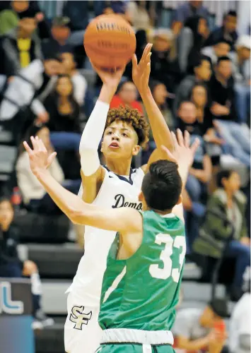
POLYGON ((33 328, 41 329, 53 325, 52 318, 43 313, 41 281, 37 265, 30 260, 21 261, 18 256, 18 228, 13 225, 14 210, 8 198, 0 199, 0 277, 30 277, 33 294, 33 328))

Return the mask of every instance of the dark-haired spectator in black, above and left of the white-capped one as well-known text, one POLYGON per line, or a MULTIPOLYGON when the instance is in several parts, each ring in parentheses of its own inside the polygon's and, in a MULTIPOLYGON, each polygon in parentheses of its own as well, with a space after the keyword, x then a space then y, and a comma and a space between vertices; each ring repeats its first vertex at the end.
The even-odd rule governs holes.
POLYGON ((211 47, 218 43, 222 38, 230 42, 231 50, 234 50, 235 42, 238 38, 237 28, 237 13, 236 11, 228 11, 223 17, 223 25, 220 28, 216 28, 205 42, 205 47, 211 47))

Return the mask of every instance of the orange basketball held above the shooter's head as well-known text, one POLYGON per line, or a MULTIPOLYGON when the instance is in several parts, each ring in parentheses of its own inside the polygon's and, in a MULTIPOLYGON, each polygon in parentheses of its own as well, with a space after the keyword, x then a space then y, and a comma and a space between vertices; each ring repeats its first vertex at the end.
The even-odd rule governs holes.
POLYGON ((131 25, 121 16, 101 15, 86 28, 86 54, 100 68, 119 68, 132 59, 136 37, 131 25))

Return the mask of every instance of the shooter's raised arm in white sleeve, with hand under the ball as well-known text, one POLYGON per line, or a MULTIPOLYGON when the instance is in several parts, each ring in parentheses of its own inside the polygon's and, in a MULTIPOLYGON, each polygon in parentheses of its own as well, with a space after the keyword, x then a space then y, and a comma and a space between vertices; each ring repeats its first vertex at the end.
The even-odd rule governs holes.
POLYGON ((110 102, 124 72, 124 68, 115 73, 103 72, 95 66, 93 68, 103 81, 103 87, 81 136, 79 152, 81 155, 81 177, 83 184, 86 184, 88 177, 94 176, 96 179, 100 177, 101 167, 98 158, 98 145, 105 130, 110 102))

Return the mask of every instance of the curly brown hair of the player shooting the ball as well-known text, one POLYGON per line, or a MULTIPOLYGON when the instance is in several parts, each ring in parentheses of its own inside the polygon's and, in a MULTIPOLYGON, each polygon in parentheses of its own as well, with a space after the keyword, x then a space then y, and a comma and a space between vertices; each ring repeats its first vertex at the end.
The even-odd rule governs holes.
POLYGON ((137 109, 132 109, 128 106, 119 108, 112 108, 107 114, 106 126, 110 126, 114 121, 124 121, 132 125, 138 136, 139 145, 144 147, 148 142, 149 125, 144 116, 142 116, 137 109))

